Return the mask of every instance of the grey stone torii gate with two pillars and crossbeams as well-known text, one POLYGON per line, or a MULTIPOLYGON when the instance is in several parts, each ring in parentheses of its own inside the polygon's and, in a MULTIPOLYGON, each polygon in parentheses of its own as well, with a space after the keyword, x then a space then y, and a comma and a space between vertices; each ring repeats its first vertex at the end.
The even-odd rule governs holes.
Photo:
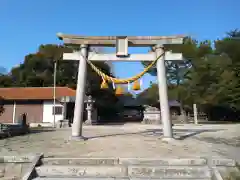
MULTIPOLYGON (((84 95, 86 83, 87 58, 90 61, 154 61, 164 52, 165 45, 182 44, 184 36, 76 36, 57 34, 65 45, 80 47, 80 51, 64 53, 63 60, 80 61, 76 89, 76 101, 72 126, 72 137, 81 139, 84 111, 84 95), (89 47, 116 47, 116 54, 99 54, 88 52, 89 47), (153 52, 147 54, 129 54, 128 47, 151 47, 153 52)), ((165 52, 157 61, 157 77, 160 96, 163 138, 172 139, 172 123, 170 119, 165 60, 183 60, 181 53, 165 52)), ((160 121, 160 120, 159 120, 160 121)))

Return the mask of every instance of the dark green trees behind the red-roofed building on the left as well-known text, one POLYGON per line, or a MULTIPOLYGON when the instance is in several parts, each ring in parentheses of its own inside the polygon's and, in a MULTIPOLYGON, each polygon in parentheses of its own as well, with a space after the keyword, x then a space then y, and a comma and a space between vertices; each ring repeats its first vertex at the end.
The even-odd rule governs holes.
MULTIPOLYGON (((25 56, 23 63, 13 67, 8 74, 0 74, 0 87, 53 87, 54 62, 57 62, 56 86, 76 88, 78 61, 63 61, 63 52, 71 49, 54 44, 41 45, 36 53, 25 56)), ((106 74, 111 75, 105 62, 95 64, 106 74)), ((118 100, 113 88, 100 89, 101 77, 87 67, 86 93, 97 99, 100 107, 111 106, 118 100), (108 101, 109 103, 104 103, 108 101)))

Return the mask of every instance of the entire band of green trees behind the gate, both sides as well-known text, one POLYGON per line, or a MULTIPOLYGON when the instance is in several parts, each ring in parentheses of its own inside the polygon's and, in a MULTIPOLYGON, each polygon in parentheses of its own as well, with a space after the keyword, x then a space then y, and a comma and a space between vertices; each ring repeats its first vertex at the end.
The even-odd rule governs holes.
MULTIPOLYGON (((215 41, 184 39, 183 45, 169 46, 173 52, 181 52, 184 61, 166 61, 169 99, 178 100, 181 108, 196 103, 201 106, 225 106, 240 110, 240 31, 228 32, 215 41)), ((98 51, 101 51, 98 50, 98 51)), ((57 86, 76 88, 78 62, 63 61, 62 53, 72 52, 64 46, 41 45, 36 53, 25 56, 24 61, 9 73, 1 68, 0 87, 44 87, 53 86, 54 62, 57 62, 57 86)), ((111 75, 107 63, 95 62, 106 74, 111 75)), ((148 62, 142 62, 144 66, 148 62)), ((156 68, 148 73, 156 76, 156 68)), ((110 85, 100 89, 102 82, 89 66, 86 93, 97 99, 100 107, 113 108, 118 98, 110 85), (104 102, 108 103, 104 103, 104 102)), ((159 100, 157 84, 138 94, 139 102, 152 105, 159 100)))

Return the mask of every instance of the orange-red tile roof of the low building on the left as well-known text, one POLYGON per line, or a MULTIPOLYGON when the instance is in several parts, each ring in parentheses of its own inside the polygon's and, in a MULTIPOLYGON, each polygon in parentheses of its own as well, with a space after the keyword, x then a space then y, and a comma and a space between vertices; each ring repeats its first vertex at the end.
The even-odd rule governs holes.
MULTIPOLYGON (((68 87, 56 87, 56 98, 75 96, 75 90, 68 87)), ((0 88, 0 97, 6 100, 51 100, 53 87, 16 87, 0 88)))

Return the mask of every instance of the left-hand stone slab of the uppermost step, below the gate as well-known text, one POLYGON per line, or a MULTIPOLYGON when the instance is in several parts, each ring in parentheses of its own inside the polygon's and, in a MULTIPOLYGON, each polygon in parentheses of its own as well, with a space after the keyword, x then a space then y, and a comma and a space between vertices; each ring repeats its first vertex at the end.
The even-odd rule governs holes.
POLYGON ((44 158, 46 165, 116 165, 117 158, 44 158))

